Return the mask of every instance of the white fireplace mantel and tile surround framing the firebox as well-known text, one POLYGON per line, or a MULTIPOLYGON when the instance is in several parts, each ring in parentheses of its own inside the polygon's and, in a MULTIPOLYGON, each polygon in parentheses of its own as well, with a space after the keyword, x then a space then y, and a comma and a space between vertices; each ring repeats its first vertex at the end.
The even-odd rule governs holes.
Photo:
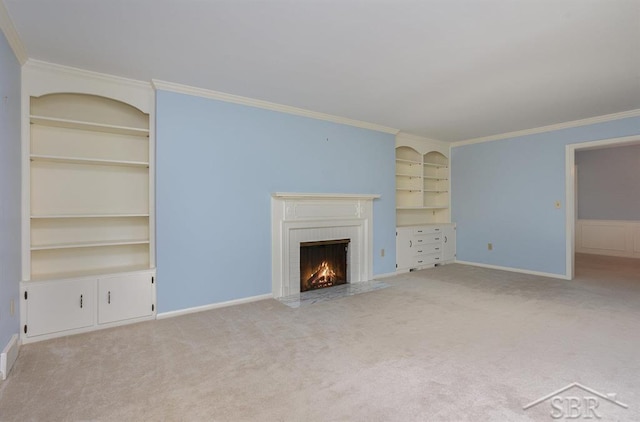
POLYGON ((349 283, 373 270, 373 200, 380 195, 282 193, 271 195, 272 293, 300 293, 300 243, 351 239, 349 283))

